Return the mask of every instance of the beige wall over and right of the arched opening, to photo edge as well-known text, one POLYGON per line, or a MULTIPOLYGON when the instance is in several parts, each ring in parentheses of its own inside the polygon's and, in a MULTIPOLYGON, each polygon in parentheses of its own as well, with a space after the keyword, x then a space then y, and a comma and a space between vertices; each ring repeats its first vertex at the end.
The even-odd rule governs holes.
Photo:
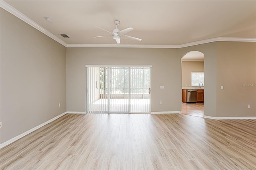
POLYGON ((214 42, 179 49, 204 53, 204 115, 256 116, 256 43, 214 42), (243 86, 249 84, 249 86, 243 86), (221 85, 224 89, 221 90, 221 85), (248 109, 248 104, 251 108, 248 109))

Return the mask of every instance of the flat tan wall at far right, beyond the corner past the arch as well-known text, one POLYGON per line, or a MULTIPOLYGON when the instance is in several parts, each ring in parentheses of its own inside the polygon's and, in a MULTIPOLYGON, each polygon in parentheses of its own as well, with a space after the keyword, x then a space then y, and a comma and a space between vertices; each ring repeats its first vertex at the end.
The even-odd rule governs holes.
POLYGON ((218 42, 217 65, 216 116, 255 117, 256 43, 218 42))

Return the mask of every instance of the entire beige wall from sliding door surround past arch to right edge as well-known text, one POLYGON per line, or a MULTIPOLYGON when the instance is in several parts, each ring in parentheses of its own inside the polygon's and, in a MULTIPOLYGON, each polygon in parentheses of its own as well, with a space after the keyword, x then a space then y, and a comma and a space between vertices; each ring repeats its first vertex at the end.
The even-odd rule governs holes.
POLYGON ((181 111, 181 58, 189 51, 200 51, 204 53, 204 115, 256 116, 256 87, 242 87, 242 83, 256 83, 255 44, 213 42, 180 49, 68 48, 67 111, 85 111, 85 65, 152 65, 151 111, 181 111))

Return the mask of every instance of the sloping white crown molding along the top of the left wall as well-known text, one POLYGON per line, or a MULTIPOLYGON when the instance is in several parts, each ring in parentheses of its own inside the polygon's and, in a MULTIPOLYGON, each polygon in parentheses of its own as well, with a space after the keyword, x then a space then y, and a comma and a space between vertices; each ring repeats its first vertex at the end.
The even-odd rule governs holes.
POLYGON ((20 20, 26 22, 30 26, 36 28, 36 30, 42 32, 46 36, 48 36, 48 37, 52 38, 53 40, 55 40, 56 42, 64 45, 65 47, 67 46, 67 43, 65 43, 64 41, 60 40, 60 38, 54 36, 52 33, 47 31, 46 29, 42 28, 42 26, 38 25, 36 22, 31 20, 30 18, 28 18, 27 16, 25 16, 20 11, 16 10, 15 8, 10 6, 8 3, 4 2, 3 0, 0 1, 0 7, 3 8, 4 10, 6 10, 7 12, 10 12, 12 15, 16 16, 20 20))

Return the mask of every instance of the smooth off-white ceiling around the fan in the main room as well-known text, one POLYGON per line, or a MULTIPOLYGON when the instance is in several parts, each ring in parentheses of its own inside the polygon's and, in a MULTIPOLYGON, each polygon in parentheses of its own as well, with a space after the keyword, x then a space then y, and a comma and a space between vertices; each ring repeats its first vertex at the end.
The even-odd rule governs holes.
POLYGON ((114 20, 119 30, 132 27, 121 44, 182 45, 212 38, 256 38, 256 1, 195 0, 5 0, 66 44, 116 44, 109 35, 114 20), (46 22, 44 17, 53 20, 46 22), (62 38, 67 34, 70 38, 62 38))

